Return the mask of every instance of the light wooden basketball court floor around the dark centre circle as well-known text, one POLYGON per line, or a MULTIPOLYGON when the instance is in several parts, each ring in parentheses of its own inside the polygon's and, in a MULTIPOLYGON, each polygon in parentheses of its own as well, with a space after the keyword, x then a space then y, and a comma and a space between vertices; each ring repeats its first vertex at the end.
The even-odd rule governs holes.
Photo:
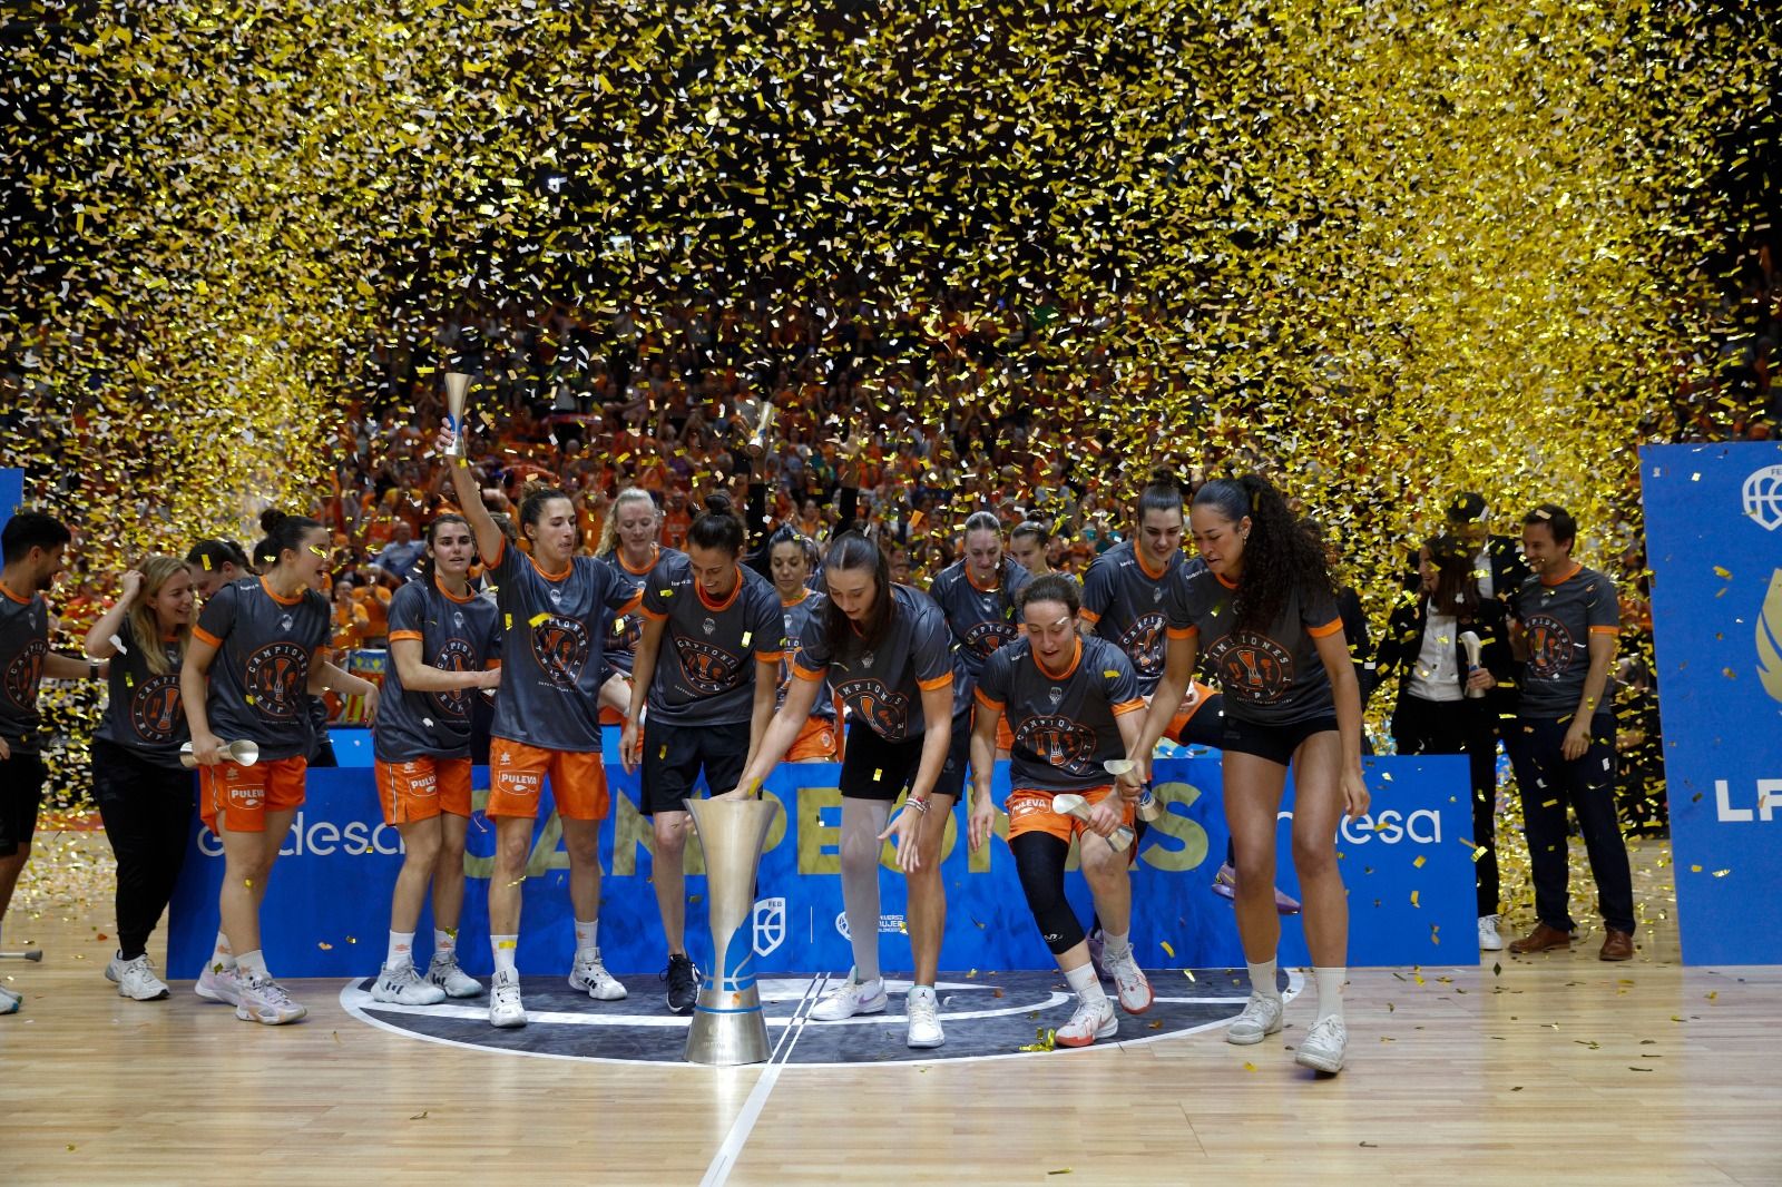
MULTIPOLYGON (((367 1025, 340 982, 321 980, 289 982, 305 1023, 253 1027, 189 982, 169 1002, 116 996, 102 977, 103 839, 61 845, 46 873, 27 873, 4 945, 46 957, 0 962, 25 995, 0 1018, 9 1187, 1782 1183, 1782 968, 1679 964, 1661 841, 1634 843, 1634 961, 1600 962, 1600 936, 1586 934, 1534 959, 1354 970, 1349 1069, 1335 1078, 1287 1050, 1313 1016, 1310 993, 1288 1005, 1285 1043, 1230 1046, 1210 1027, 864 1066, 440 1044, 367 1025), (89 889, 69 889, 69 868, 89 889)), ((1590 902, 1586 886, 1574 895, 1590 902)), ((633 989, 654 995, 654 978, 633 989)))

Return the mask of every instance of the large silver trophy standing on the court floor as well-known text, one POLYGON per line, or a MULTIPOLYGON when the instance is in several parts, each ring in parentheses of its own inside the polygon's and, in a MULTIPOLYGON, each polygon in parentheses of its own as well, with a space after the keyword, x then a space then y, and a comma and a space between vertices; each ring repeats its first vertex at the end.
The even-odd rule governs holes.
POLYGON ((756 989, 756 870, 779 813, 777 800, 684 800, 706 850, 711 904, 711 968, 699 986, 686 1062, 731 1068, 764 1064, 768 1021, 756 989))

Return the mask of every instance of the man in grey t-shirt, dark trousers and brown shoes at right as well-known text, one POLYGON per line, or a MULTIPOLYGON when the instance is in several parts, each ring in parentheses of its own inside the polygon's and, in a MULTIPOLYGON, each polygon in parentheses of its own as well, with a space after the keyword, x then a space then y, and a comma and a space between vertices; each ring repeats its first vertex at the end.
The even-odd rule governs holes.
POLYGON ((1634 884, 1614 815, 1614 711, 1609 668, 1620 633, 1614 583, 1572 560, 1577 522, 1545 503, 1522 520, 1534 576, 1522 583, 1509 647, 1525 663, 1509 761, 1534 872, 1534 930, 1509 945, 1531 954, 1572 943, 1566 904, 1566 804, 1597 880, 1604 961, 1634 955, 1634 884))

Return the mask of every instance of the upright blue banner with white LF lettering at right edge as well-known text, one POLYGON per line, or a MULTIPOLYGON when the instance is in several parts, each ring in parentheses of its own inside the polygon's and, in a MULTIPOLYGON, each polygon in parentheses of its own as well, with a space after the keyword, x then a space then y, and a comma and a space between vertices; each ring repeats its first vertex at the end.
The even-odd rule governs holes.
POLYGON ((1782 444, 1639 451, 1686 964, 1782 964, 1782 444))

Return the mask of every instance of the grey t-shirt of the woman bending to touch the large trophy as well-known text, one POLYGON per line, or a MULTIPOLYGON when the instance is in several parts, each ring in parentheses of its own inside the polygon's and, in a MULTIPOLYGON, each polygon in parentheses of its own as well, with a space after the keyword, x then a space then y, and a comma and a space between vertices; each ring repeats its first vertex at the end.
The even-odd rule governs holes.
POLYGON ((839 659, 829 631, 804 640, 793 675, 829 675, 848 711, 886 741, 909 741, 927 731, 921 693, 952 686, 953 656, 946 615, 934 599, 907 585, 891 586, 891 622, 871 651, 839 659))

